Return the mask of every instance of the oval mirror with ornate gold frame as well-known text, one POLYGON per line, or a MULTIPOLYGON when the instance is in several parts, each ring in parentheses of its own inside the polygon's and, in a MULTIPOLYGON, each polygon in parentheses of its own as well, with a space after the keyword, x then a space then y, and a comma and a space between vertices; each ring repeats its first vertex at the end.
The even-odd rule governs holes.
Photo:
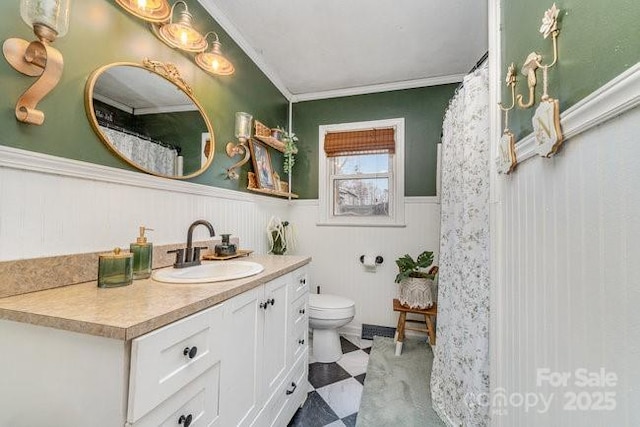
POLYGON ((213 160, 211 123, 172 64, 145 59, 98 68, 87 81, 85 108, 100 139, 144 172, 192 178, 213 160))

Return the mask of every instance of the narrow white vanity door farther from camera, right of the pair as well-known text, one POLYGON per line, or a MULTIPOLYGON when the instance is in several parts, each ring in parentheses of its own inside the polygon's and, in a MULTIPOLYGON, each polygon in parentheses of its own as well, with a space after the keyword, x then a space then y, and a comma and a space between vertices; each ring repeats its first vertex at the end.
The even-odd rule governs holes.
POLYGON ((268 399, 287 373, 288 305, 287 289, 291 275, 265 284, 263 386, 268 399))

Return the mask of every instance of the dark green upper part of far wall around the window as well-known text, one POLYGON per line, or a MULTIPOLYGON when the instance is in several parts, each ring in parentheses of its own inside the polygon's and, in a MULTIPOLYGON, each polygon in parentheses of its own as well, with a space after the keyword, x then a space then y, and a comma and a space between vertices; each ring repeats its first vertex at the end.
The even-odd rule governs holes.
POLYGON ((299 154, 293 191, 318 197, 318 126, 404 117, 405 195, 435 196, 436 145, 444 112, 458 85, 432 86, 293 104, 299 154))

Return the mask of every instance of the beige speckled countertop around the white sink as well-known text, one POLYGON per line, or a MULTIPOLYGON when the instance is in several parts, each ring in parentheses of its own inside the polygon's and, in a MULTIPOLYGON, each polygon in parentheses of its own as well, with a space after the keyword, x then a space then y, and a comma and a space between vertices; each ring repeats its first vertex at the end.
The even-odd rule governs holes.
MULTIPOLYGON (((0 298, 0 319, 131 340, 212 307, 311 261, 305 256, 252 255, 264 266, 244 279, 207 284, 135 280, 120 288, 98 288, 95 281, 0 298)), ((224 262, 224 261, 203 261, 224 262)))

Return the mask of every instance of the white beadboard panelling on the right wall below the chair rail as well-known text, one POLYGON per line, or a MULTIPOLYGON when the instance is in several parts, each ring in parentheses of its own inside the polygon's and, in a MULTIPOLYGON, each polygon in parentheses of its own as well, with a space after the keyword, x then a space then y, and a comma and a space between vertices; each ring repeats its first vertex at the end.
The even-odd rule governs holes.
POLYGON ((492 396, 553 400, 544 411, 500 401, 493 425, 640 425, 638 135, 636 107, 499 180, 505 280, 492 396), (566 385, 537 384, 541 368, 569 373, 566 385), (605 369, 616 385, 580 386, 577 369, 605 369), (603 392, 615 393, 615 410, 591 406, 603 392), (572 396, 576 410, 565 407, 572 396))

